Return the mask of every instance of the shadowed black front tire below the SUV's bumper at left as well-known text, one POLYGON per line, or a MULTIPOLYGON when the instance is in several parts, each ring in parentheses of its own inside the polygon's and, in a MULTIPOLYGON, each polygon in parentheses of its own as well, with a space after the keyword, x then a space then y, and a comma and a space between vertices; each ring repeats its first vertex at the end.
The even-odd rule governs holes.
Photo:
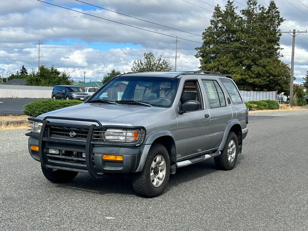
POLYGON ((78 174, 78 172, 65 171, 60 169, 54 169, 54 171, 43 168, 42 172, 47 180, 54 183, 67 183, 72 181, 78 174))

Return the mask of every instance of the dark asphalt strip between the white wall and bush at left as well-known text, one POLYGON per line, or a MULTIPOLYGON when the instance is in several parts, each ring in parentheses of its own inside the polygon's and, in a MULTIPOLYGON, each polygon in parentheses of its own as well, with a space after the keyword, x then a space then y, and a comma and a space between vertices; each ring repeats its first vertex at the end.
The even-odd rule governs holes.
POLYGON ((24 105, 39 99, 0 99, 0 115, 24 115, 24 105))

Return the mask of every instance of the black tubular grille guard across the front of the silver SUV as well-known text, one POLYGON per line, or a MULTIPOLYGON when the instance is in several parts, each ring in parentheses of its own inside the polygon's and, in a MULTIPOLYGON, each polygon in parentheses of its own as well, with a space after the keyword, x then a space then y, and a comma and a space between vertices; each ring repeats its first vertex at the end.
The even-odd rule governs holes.
MULTIPOLYGON (((35 118, 30 117, 30 118, 28 118, 28 120, 41 122, 43 124, 40 134, 35 134, 35 133, 32 133, 32 132, 26 133, 26 136, 30 136, 30 137, 34 137, 34 138, 39 139, 39 158, 40 158, 40 162, 41 162, 43 168, 48 169, 46 167, 46 163, 48 161, 48 158, 47 158, 46 153, 44 152, 44 150, 46 148, 46 142, 60 142, 60 143, 63 143, 63 144, 85 145, 87 170, 95 178, 101 178, 102 175, 98 174, 98 172, 96 171, 96 168, 94 166, 94 162, 93 162, 93 159, 92 159, 94 145, 136 147, 136 146, 142 145, 144 143, 144 139, 145 139, 145 135, 146 135, 145 128, 141 127, 141 126, 137 126, 137 127, 134 127, 134 126, 115 126, 115 125, 104 125, 104 126, 102 126, 102 124, 97 120, 81 120, 81 119, 75 119, 75 118, 63 118, 63 117, 54 117, 54 116, 45 117, 43 120, 39 120, 39 119, 35 119, 35 118), (55 138, 49 137, 48 127, 52 126, 52 125, 60 125, 60 124, 50 122, 47 119, 87 121, 87 122, 97 123, 97 124, 99 124, 99 126, 92 124, 89 128, 89 126, 85 126, 85 125, 73 125, 73 126, 76 126, 78 128, 87 127, 89 129, 86 142, 79 141, 79 140, 69 140, 69 139, 55 139, 55 138), (106 142, 106 141, 94 141, 93 140, 94 131, 102 131, 103 132, 107 128, 140 130, 140 135, 138 137, 138 140, 135 143, 119 143, 119 142, 106 142)), ((72 124, 70 124, 70 126, 71 125, 72 124)))

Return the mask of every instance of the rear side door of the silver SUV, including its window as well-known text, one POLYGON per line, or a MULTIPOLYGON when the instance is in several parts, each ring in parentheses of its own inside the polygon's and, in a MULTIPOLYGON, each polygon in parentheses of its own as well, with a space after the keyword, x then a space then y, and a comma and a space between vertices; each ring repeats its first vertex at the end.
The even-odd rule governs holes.
POLYGON ((210 128, 207 148, 217 148, 222 141, 229 121, 232 119, 232 110, 227 103, 225 92, 215 79, 202 79, 206 92, 207 105, 210 115, 210 128))

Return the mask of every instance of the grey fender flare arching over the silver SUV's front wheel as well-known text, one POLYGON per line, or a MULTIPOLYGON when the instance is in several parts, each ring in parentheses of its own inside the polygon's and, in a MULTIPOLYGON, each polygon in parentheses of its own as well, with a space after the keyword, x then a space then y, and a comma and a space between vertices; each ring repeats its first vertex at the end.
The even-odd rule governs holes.
POLYGON ((151 134, 148 136, 147 140, 144 142, 144 149, 143 149, 143 152, 142 152, 142 154, 141 154, 139 166, 138 166, 136 172, 142 171, 142 169, 143 169, 143 167, 144 167, 145 160, 147 159, 147 156, 148 156, 148 152, 149 152, 149 150, 150 150, 150 148, 151 148, 151 146, 152 146, 152 143, 153 143, 157 138, 162 137, 162 136, 170 136, 170 137, 172 138, 172 140, 173 140, 173 145, 174 145, 175 150, 174 150, 173 154, 171 154, 172 156, 171 156, 170 160, 171 160, 171 159, 174 159, 174 158, 175 158, 175 160, 176 160, 176 147, 175 147, 175 141, 174 141, 174 136, 173 136, 173 134, 172 134, 170 131, 168 131, 168 130, 156 131, 156 132, 151 133, 151 134))

